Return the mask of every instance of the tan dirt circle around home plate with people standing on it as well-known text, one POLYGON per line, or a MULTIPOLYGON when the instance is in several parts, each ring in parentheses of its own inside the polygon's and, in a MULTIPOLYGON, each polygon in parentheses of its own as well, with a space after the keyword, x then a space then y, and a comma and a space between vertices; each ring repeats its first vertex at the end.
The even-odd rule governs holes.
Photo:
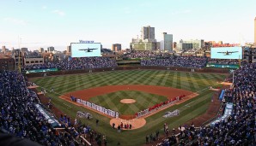
POLYGON ((146 124, 146 120, 143 119, 143 118, 137 118, 137 119, 133 119, 133 120, 123 120, 123 119, 112 119, 110 120, 109 124, 110 126, 113 126, 113 123, 115 124, 115 129, 117 129, 117 127, 119 125, 121 125, 121 123, 123 123, 123 128, 122 130, 134 130, 134 129, 137 129, 137 128, 141 128, 143 127, 145 124, 146 124), (126 128, 125 129, 125 125, 129 126, 129 128, 126 128), (130 124, 131 124, 131 129, 130 129, 130 124))

